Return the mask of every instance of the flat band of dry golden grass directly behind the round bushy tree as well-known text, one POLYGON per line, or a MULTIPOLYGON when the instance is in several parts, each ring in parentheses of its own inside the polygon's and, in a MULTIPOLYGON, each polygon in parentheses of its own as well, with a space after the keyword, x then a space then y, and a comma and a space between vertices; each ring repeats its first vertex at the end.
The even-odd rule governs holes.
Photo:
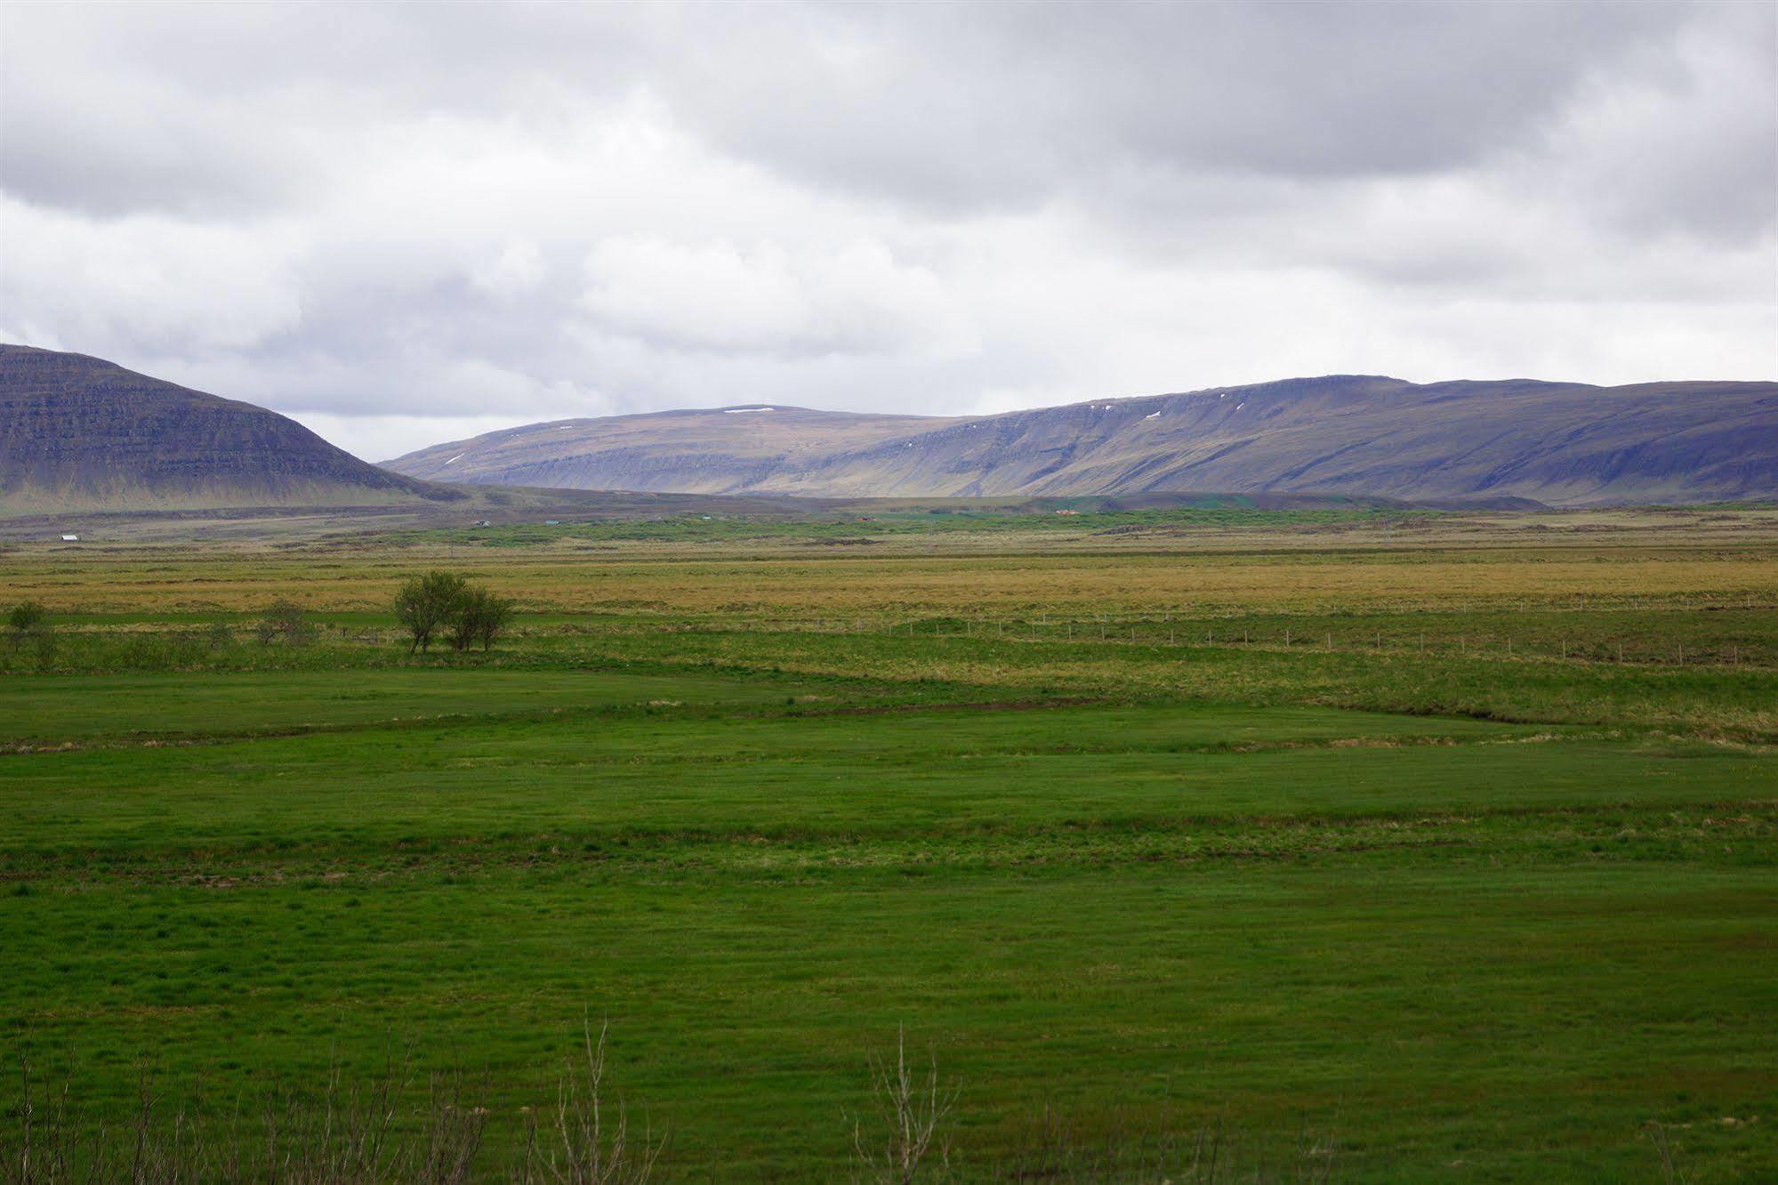
POLYGON ((402 550, 388 555, 144 555, 0 560, 0 600, 59 612, 251 612, 277 598, 382 610, 407 573, 471 573, 528 610, 667 614, 1097 614, 1451 609, 1778 596, 1778 553, 1655 548, 688 559, 402 550))

